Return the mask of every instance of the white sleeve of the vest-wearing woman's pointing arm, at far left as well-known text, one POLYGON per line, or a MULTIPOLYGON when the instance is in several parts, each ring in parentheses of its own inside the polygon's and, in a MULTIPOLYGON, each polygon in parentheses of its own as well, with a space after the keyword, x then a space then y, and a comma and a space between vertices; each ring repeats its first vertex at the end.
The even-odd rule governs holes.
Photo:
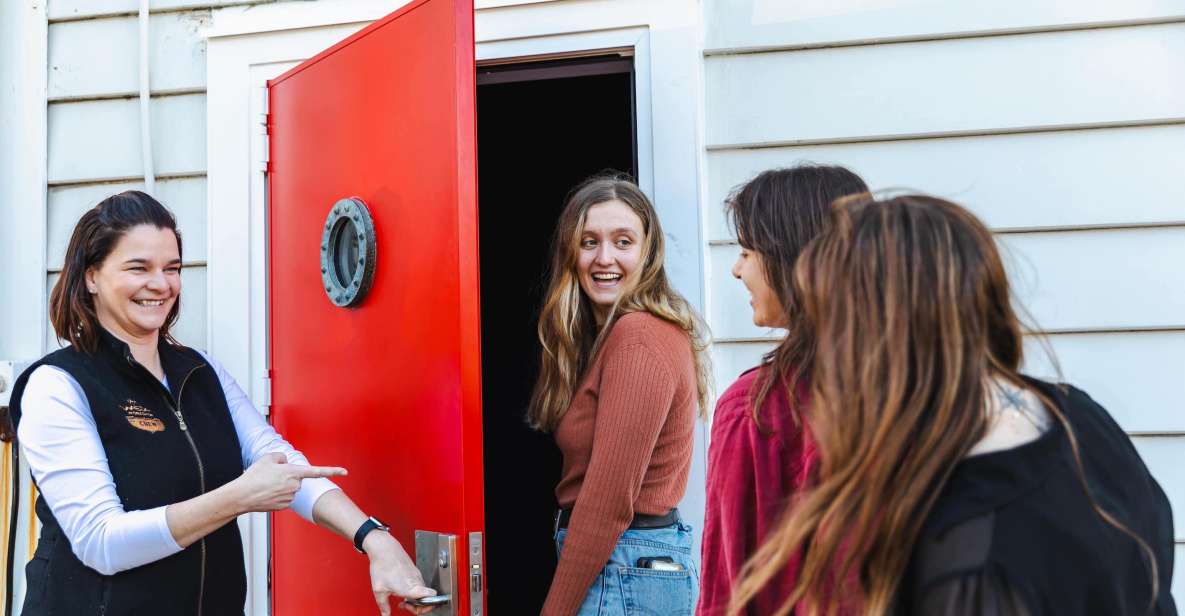
POLYGON ((38 367, 20 404, 21 453, 84 565, 110 576, 181 551, 165 507, 124 511, 87 396, 73 377, 38 367))

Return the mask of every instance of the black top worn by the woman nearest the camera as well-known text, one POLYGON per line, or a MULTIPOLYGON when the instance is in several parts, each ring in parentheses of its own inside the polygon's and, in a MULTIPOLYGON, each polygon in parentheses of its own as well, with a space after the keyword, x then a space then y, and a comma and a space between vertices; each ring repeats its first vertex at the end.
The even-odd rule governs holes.
POLYGON ((1130 438, 1084 392, 1030 379, 1065 415, 1033 442, 972 456, 927 516, 895 614, 1173 616, 1168 499, 1130 438), (1139 544, 1107 524, 1095 501, 1155 553, 1159 591, 1139 544))

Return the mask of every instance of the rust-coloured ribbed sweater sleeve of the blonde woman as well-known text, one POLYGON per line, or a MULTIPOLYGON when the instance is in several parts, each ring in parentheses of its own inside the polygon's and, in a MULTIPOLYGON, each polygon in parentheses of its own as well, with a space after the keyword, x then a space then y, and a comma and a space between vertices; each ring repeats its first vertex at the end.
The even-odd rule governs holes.
POLYGON ((662 358, 642 344, 624 345, 604 358, 592 453, 544 615, 576 614, 633 521, 634 502, 675 389, 662 358))

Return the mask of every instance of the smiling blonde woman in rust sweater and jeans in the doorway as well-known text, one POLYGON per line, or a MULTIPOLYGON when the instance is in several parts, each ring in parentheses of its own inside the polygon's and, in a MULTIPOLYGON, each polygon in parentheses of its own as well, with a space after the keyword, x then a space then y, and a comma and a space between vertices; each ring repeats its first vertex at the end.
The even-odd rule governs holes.
POLYGON ((620 175, 576 187, 553 240, 530 422, 563 453, 546 616, 690 615, 675 509, 706 396, 699 319, 667 281, 654 206, 620 175))

